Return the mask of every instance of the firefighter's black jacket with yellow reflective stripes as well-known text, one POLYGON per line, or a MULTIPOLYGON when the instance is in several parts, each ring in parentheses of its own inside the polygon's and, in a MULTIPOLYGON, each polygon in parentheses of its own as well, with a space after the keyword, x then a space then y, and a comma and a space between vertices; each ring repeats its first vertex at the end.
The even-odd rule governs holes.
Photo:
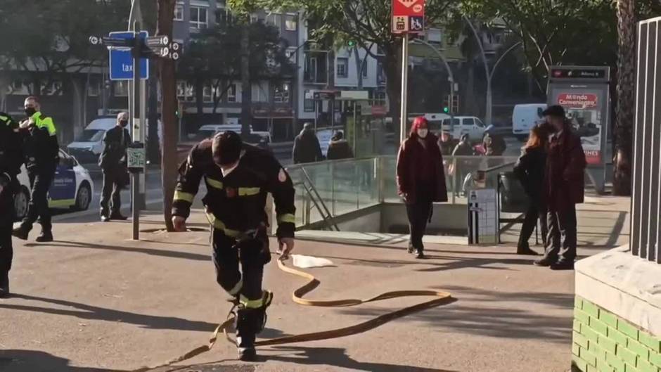
POLYGON ((293 238, 295 230, 294 186, 273 155, 244 143, 238 167, 223 177, 212 157, 212 139, 198 143, 179 167, 172 214, 188 217, 191 203, 204 177, 207 217, 227 236, 257 229, 267 223, 267 193, 273 195, 278 219, 278 238, 293 238))

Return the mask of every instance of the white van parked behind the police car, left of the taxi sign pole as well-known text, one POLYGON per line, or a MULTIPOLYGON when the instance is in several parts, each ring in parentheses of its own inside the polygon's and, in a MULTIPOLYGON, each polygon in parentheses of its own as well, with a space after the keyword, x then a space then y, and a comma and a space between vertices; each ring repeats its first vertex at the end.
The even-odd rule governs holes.
MULTIPOLYGON (((160 124, 160 122, 159 122, 160 124)), ((69 143, 67 151, 82 164, 98 162, 98 155, 103 152, 103 135, 108 129, 117 125, 116 116, 98 117, 92 120, 78 138, 69 143)), ((129 129, 130 132, 130 129, 129 129)), ((147 129, 148 132, 148 129, 147 129)), ((158 126, 158 138, 161 139, 161 128, 158 126)))

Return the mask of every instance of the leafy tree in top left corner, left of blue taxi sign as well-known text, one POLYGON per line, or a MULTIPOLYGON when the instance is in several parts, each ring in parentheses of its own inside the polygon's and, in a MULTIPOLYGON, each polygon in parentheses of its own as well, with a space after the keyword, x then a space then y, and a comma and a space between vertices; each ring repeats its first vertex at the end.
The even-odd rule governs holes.
POLYGON ((5 86, 17 76, 27 79, 30 94, 41 87, 73 95, 74 122, 82 121, 89 79, 79 75, 92 66, 101 67, 107 51, 91 48, 90 35, 126 27, 128 1, 21 1, 2 0, 0 6, 0 108, 5 86))

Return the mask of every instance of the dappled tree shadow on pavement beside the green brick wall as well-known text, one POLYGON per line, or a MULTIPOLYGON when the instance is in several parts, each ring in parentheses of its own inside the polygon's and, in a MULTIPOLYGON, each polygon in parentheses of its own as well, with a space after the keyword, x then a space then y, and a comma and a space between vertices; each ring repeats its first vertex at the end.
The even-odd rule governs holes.
MULTIPOLYGON (((430 328, 453 333, 539 339, 570 345, 567 342, 572 337, 573 294, 501 292, 461 286, 432 289, 445 290, 460 301, 411 314, 399 321, 423 322, 430 328), (563 309, 567 310, 565 316, 548 312, 563 309)), ((343 312, 354 316, 379 316, 383 309, 355 308, 343 312)))

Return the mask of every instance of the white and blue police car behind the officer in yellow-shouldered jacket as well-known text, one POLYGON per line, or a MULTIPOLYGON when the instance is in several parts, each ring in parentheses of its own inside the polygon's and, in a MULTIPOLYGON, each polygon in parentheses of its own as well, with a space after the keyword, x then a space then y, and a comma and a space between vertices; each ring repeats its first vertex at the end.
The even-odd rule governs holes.
MULTIPOLYGON (((20 190, 14 198, 14 210, 16 218, 23 219, 27 214, 27 204, 30 203, 30 179, 27 177, 25 165, 20 168, 18 182, 20 190)), ((94 181, 87 169, 60 149, 60 163, 49 189, 49 207, 86 210, 92 200, 93 191, 94 181)))

